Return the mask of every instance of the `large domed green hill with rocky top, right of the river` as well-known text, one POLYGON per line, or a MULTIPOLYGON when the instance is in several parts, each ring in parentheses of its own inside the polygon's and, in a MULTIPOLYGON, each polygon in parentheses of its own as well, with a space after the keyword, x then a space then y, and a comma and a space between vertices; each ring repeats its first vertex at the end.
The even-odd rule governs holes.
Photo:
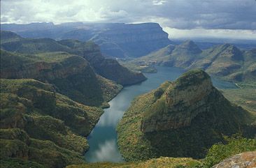
POLYGON ((204 158, 223 135, 243 132, 253 122, 249 115, 222 96, 206 72, 190 70, 131 103, 118 124, 118 146, 127 161, 204 158))

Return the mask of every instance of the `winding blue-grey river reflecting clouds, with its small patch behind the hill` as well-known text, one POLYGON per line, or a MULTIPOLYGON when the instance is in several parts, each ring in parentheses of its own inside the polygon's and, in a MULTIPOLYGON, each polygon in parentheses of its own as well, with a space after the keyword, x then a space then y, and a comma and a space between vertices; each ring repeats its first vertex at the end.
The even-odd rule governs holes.
MULTIPOLYGON (((90 150, 85 153, 87 162, 124 162, 118 150, 115 128, 122 115, 136 96, 156 89, 164 81, 173 81, 185 70, 181 68, 157 67, 157 73, 145 74, 148 79, 141 84, 126 86, 118 96, 109 102, 110 108, 104 109, 99 122, 87 137, 90 150)), ((212 79, 219 89, 236 88, 236 85, 220 79, 212 79)))

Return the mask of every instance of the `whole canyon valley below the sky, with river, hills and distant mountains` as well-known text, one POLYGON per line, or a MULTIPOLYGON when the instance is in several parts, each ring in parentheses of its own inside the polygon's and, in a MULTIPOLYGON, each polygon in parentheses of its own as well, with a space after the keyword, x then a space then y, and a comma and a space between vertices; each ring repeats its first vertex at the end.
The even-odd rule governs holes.
POLYGON ((175 45, 156 23, 1 26, 1 167, 205 168, 256 150, 255 49, 175 45))

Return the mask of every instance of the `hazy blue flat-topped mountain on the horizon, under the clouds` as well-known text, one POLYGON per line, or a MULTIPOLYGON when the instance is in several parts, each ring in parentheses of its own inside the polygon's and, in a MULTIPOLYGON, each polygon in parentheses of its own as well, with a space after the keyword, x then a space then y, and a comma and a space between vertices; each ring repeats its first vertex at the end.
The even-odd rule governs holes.
POLYGON ((102 54, 113 57, 143 56, 171 43, 157 23, 1 24, 1 30, 26 38, 93 40, 102 54))

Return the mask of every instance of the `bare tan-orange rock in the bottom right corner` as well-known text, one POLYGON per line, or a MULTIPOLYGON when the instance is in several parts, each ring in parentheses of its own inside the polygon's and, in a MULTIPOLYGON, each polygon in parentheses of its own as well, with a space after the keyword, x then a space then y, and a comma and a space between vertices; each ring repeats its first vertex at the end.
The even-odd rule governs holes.
POLYGON ((256 167, 256 151, 240 153, 227 158, 213 168, 254 168, 256 167))

